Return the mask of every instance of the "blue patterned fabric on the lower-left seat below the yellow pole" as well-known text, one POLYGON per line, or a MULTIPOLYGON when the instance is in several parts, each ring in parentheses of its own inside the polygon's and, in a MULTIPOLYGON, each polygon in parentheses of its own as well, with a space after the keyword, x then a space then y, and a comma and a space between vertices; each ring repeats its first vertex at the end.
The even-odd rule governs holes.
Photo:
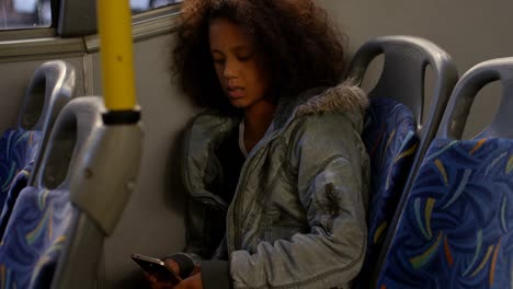
POLYGON ((69 190, 25 187, 0 243, 1 288, 49 288, 75 215, 69 190))

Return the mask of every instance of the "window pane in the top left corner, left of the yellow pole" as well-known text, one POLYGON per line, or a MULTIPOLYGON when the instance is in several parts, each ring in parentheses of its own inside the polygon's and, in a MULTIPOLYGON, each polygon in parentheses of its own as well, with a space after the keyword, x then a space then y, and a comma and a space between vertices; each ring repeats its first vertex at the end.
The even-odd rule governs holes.
POLYGON ((0 0, 0 30, 49 27, 50 0, 0 0))

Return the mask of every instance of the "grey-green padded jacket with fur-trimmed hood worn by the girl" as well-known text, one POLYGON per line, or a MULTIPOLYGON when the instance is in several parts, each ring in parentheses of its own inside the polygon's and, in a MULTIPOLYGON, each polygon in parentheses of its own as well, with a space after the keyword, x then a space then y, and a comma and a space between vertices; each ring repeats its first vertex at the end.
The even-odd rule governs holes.
POLYGON ((191 209, 179 264, 209 259, 205 288, 349 288, 366 247, 367 103, 350 83, 281 100, 230 204, 209 190, 221 173, 213 152, 240 119, 197 116, 182 160, 191 209), (224 250, 228 261, 216 259, 224 250))

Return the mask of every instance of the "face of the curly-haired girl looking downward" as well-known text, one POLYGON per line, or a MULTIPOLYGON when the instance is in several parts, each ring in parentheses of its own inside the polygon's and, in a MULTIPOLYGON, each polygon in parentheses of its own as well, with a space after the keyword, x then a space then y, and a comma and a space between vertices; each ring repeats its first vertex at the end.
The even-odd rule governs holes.
POLYGON ((209 26, 210 54, 219 83, 230 103, 254 108, 267 102, 270 76, 261 54, 237 24, 215 19, 209 26))

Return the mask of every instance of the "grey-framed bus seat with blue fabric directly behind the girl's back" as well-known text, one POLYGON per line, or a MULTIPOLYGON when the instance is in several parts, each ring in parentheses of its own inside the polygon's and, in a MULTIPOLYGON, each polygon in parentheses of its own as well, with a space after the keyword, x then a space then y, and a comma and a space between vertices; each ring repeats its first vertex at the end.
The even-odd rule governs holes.
POLYGON ((349 78, 362 83, 369 63, 381 54, 384 69, 369 92, 371 104, 362 136, 371 157, 372 185, 367 252, 355 288, 368 287, 407 178, 414 171, 413 161, 423 154, 434 137, 457 80, 456 68, 443 49, 412 36, 385 36, 367 42, 356 51, 349 78), (430 117, 423 124, 428 65, 434 71, 436 88, 430 117))

